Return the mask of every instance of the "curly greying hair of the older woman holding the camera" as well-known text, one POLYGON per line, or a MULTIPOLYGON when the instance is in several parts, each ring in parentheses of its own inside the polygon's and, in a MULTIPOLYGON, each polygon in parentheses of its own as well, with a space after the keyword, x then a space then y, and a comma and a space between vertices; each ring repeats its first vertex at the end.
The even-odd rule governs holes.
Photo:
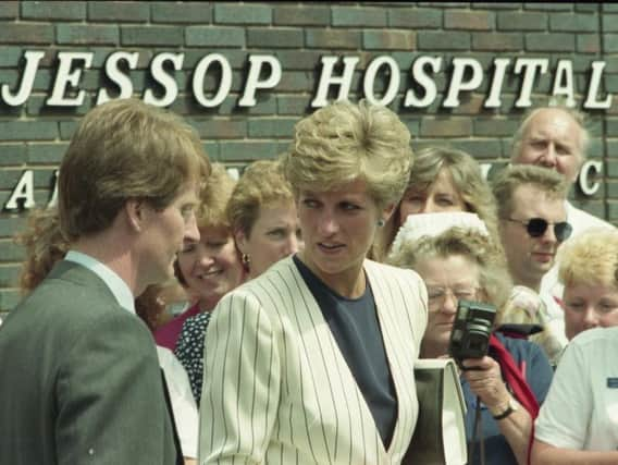
POLYGON ((502 248, 483 233, 465 228, 450 228, 436 236, 422 236, 405 243, 388 262, 416 269, 423 260, 461 256, 479 267, 479 299, 496 306, 495 326, 512 289, 502 248))

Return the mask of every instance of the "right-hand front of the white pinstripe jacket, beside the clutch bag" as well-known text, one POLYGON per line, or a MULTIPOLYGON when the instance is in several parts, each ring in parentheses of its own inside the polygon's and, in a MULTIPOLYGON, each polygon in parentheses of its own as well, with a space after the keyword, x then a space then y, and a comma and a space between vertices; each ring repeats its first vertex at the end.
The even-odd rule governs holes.
POLYGON ((403 318, 408 314, 406 303, 417 302, 418 296, 415 296, 413 290, 409 289, 409 282, 390 272, 390 268, 366 260, 364 269, 375 298, 386 359, 397 396, 397 423, 388 452, 397 450, 405 452, 416 424, 409 412, 410 406, 417 403, 416 391, 410 390, 410 387, 413 386, 413 360, 418 354, 410 353, 415 351, 415 344, 411 340, 412 334, 405 330, 405 323, 411 325, 411 322, 403 321, 403 318))

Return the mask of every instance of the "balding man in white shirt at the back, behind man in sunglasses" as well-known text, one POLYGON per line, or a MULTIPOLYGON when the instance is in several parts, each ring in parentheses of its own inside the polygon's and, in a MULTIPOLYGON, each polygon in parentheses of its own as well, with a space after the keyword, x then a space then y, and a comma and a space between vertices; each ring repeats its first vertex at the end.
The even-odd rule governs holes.
MULTIPOLYGON (((574 184, 585 160, 589 134, 583 115, 566 107, 543 107, 528 113, 514 137, 511 163, 536 164, 563 174, 574 184)), ((608 222, 565 203, 567 221, 572 227, 571 237, 591 228, 614 228, 608 222)), ((540 295, 553 320, 564 323, 564 313, 554 296, 563 295, 558 283, 558 265, 545 273, 540 295)), ((566 342, 566 340, 565 340, 566 342)))

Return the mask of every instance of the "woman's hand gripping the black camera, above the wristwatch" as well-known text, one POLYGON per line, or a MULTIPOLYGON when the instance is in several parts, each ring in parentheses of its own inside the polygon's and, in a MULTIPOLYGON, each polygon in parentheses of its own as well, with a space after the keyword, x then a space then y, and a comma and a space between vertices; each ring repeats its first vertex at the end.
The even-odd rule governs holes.
POLYGON ((477 394, 493 415, 498 415, 508 408, 510 393, 502 378, 500 366, 492 357, 468 358, 464 360, 466 368, 464 378, 470 389, 477 394))

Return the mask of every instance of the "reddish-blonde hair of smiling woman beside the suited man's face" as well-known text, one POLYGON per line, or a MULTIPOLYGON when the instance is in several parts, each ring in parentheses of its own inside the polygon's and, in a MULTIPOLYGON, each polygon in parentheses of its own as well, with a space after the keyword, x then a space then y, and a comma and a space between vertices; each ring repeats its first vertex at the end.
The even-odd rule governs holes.
POLYGON ((226 209, 235 185, 236 181, 222 163, 212 163, 212 172, 201 189, 199 208, 196 212, 198 228, 225 228, 232 233, 226 209))

